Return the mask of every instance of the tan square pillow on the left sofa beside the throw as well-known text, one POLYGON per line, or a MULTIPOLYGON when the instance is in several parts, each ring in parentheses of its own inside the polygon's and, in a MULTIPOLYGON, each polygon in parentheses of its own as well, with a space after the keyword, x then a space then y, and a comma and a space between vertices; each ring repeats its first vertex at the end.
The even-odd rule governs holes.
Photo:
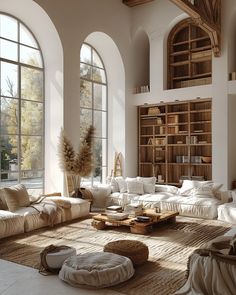
POLYGON ((4 188, 5 199, 9 211, 14 212, 20 207, 30 205, 28 192, 23 184, 4 188))

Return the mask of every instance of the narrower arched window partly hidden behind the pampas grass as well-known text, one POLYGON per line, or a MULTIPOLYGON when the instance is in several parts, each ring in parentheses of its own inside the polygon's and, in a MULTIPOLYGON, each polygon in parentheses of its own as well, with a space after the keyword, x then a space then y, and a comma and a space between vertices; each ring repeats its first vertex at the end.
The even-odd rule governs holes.
MULTIPOLYGON (((96 128, 94 174, 86 181, 104 182, 107 176, 107 78, 98 52, 84 43, 80 51, 80 137, 89 125, 96 128)), ((85 181, 85 180, 84 180, 85 181)))

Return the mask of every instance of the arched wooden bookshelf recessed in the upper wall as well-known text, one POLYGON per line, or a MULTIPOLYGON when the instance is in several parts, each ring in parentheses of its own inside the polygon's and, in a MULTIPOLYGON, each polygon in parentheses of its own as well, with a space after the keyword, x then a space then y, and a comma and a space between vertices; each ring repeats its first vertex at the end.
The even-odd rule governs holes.
POLYGON ((178 23, 168 37, 168 88, 211 84, 211 48, 208 34, 191 18, 178 23))

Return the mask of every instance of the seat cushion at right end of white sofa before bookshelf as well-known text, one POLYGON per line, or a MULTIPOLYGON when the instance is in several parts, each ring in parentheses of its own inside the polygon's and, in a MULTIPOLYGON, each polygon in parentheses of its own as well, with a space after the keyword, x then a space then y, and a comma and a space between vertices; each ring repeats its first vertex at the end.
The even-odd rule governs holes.
POLYGON ((221 202, 216 198, 194 196, 174 196, 161 201, 162 211, 178 211, 180 215, 205 219, 217 217, 217 207, 221 202))

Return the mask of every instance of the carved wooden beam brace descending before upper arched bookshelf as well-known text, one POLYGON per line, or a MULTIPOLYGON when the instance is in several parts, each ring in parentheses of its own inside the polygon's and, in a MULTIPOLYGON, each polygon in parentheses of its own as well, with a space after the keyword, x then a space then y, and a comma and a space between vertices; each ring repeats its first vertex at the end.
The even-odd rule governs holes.
POLYGON ((214 56, 221 53, 221 0, 170 0, 209 34, 214 56))

